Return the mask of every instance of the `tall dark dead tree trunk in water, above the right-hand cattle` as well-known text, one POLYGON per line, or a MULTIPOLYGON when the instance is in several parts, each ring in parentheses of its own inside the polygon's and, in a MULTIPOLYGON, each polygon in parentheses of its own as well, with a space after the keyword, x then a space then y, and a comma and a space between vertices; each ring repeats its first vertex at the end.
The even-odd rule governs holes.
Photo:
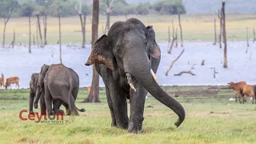
POLYGON ((224 64, 223 67, 227 67, 226 58, 226 14, 225 14, 225 1, 222 2, 222 18, 223 18, 223 42, 224 42, 224 64))

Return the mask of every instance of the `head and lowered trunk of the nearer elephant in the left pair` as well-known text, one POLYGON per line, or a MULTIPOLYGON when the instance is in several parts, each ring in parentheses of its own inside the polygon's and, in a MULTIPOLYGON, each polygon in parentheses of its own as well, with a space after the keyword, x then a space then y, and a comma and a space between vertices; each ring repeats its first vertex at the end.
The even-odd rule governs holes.
POLYGON ((43 92, 43 89, 44 89, 43 79, 45 78, 49 67, 50 66, 45 65, 45 64, 41 67, 41 71, 40 71, 40 74, 39 74, 39 77, 38 77, 38 83, 37 83, 37 91, 36 91, 35 99, 34 99, 34 108, 35 109, 38 108, 38 101, 39 101, 39 98, 42 95, 42 92, 43 92))

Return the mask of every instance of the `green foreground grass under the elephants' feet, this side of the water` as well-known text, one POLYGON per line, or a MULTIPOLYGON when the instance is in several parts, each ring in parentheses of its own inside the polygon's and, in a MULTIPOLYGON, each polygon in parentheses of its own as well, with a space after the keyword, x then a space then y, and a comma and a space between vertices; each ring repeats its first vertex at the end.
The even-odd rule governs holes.
MULTIPOLYGON (((167 92, 206 90, 209 87, 165 87, 167 92)), ((28 110, 29 90, 0 90, 0 143, 255 143, 256 105, 228 101, 231 90, 218 95, 184 95, 177 99, 186 110, 186 119, 175 128, 178 118, 172 110, 152 96, 146 99, 143 134, 127 134, 110 126, 110 111, 105 91, 101 103, 81 103, 86 97, 80 90, 76 105, 85 108, 78 117, 68 117, 64 125, 21 121, 20 110, 28 110)), ((38 110, 37 110, 38 111, 38 110)))

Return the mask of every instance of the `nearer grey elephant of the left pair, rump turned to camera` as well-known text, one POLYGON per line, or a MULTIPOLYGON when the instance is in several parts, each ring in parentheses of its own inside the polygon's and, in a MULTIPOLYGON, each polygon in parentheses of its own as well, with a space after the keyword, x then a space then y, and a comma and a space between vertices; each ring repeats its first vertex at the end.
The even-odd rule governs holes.
MULTIPOLYGON (((78 115, 78 108, 74 104, 78 95, 78 89, 79 78, 74 70, 62 64, 43 65, 38 78, 34 107, 38 107, 38 100, 44 90, 47 114, 53 114, 51 102, 61 100, 57 102, 66 106, 66 113, 68 115, 78 115)), ((83 112, 85 110, 79 111, 83 112)))

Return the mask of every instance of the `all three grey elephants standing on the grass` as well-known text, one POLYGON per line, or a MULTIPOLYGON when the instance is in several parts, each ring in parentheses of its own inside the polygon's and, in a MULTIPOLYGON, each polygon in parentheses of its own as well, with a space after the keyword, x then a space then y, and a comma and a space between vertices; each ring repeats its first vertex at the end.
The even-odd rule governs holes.
MULTIPOLYGON (((183 106, 158 85, 155 73, 160 59, 161 51, 155 42, 153 26, 145 26, 136 18, 115 22, 108 35, 102 35, 94 43, 86 66, 94 65, 105 84, 111 126, 140 133, 147 92, 178 114, 175 126, 184 121, 183 106), (130 100, 130 117, 127 99, 130 100)), ((56 114, 62 111, 59 107, 63 105, 66 114, 78 115, 75 106, 78 88, 79 78, 74 70, 62 64, 43 65, 39 74, 31 76, 30 112, 33 112, 33 105, 38 108, 40 99, 43 114, 46 111, 56 114)))

